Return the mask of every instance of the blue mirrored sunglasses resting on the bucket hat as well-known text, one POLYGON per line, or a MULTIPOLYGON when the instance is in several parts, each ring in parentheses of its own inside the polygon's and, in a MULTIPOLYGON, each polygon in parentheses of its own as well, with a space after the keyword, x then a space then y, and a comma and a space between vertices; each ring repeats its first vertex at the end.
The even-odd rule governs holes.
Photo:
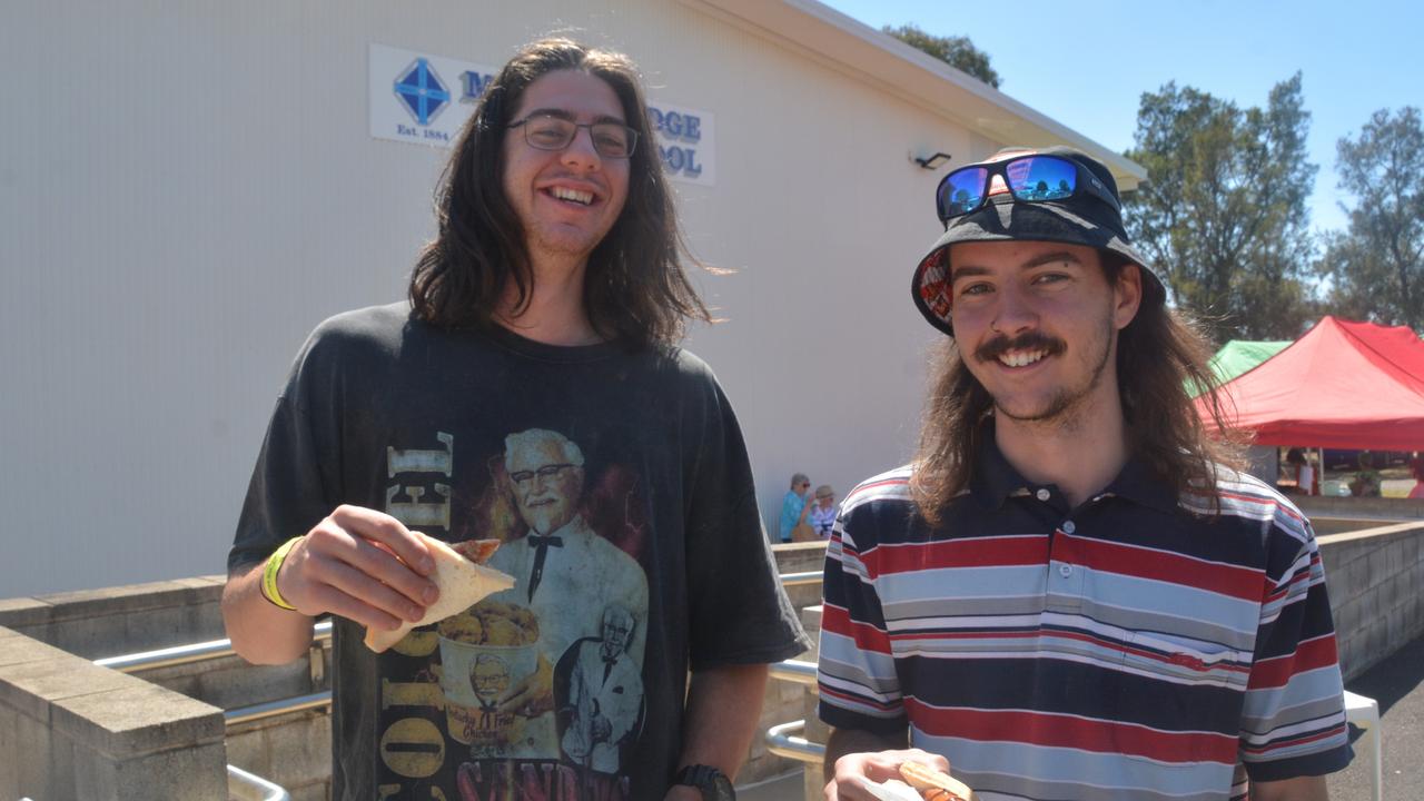
POLYGON ((1091 170, 1058 155, 1020 155, 991 164, 960 167, 940 181, 934 192, 934 208, 940 222, 963 217, 983 207, 991 194, 990 181, 1001 175, 1014 200, 1020 202, 1061 201, 1088 192, 1122 212, 1118 198, 1091 170))

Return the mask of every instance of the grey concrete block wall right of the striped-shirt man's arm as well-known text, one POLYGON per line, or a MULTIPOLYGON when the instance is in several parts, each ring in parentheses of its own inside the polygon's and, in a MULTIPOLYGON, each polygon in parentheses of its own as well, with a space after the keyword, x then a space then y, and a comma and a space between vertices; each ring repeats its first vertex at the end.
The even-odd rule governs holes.
POLYGON ((1424 522, 1324 534, 1319 543, 1349 681, 1424 634, 1424 522))

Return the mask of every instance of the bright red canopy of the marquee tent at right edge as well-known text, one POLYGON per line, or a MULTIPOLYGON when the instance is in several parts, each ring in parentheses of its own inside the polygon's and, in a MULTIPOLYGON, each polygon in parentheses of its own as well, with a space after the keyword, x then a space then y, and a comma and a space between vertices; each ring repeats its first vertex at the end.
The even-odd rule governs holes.
POLYGON ((1403 325, 1326 316, 1218 392, 1256 445, 1424 450, 1424 342, 1403 325))

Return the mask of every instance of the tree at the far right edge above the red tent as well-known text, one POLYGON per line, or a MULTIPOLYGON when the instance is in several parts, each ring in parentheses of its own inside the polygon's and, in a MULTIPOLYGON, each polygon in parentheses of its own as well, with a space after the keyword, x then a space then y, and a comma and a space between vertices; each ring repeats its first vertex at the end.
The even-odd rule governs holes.
MULTIPOLYGON (((1381 108, 1336 143, 1350 225, 1329 238, 1320 272, 1344 316, 1424 328, 1424 130, 1420 110, 1381 108)), ((1341 204, 1343 205, 1343 204, 1341 204)))

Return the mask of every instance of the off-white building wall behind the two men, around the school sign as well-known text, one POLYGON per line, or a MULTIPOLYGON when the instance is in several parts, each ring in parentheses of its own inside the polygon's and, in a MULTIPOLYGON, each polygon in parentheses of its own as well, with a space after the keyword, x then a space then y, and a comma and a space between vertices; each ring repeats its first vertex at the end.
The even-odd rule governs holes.
MULTIPOLYGON (((910 304, 938 174, 995 147, 672 0, 10 4, 0 26, 0 597, 221 573, 273 399, 323 318, 389 302, 447 157, 369 135, 370 43, 483 64, 571 26, 712 113, 679 184, 728 319, 763 510, 904 462, 936 339, 910 304)), ((293 532, 298 533, 298 532, 293 532)))

